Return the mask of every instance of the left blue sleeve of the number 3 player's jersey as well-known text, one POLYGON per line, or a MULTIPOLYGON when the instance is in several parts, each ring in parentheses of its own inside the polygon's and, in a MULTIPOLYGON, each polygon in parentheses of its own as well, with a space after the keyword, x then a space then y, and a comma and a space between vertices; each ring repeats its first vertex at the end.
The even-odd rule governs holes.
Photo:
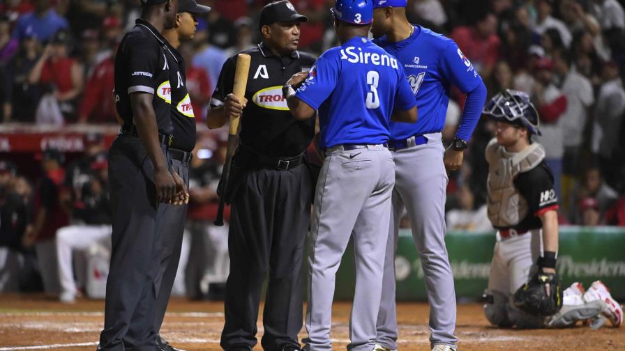
POLYGON ((336 86, 339 64, 338 60, 330 55, 319 57, 306 81, 297 89, 295 96, 313 109, 319 109, 336 86))

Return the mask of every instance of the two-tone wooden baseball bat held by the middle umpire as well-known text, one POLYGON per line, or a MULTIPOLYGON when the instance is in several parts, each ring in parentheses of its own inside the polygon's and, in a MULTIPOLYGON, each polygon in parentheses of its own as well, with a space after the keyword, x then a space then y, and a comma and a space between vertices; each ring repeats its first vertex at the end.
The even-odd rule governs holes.
MULTIPOLYGON (((248 54, 239 54, 236 56, 236 70, 234 70, 234 87, 232 93, 239 98, 241 104, 245 100, 246 86, 248 85, 248 73, 250 71, 250 60, 252 58, 248 54)), ((232 166, 232 157, 239 146, 239 122, 241 115, 229 116, 230 127, 228 131, 228 148, 226 150, 226 161, 219 180, 218 194, 219 207, 217 209, 217 217, 215 219, 216 226, 223 226, 223 207, 224 197, 228 189, 228 179, 230 178, 230 166, 232 166)))

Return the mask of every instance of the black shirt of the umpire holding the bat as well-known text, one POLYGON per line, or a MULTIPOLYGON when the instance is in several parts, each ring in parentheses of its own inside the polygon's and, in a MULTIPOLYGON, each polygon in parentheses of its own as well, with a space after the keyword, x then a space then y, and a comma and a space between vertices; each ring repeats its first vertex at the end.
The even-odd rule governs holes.
MULTIPOLYGON (((296 120, 282 96, 282 87, 302 70, 310 70, 315 57, 303 52, 276 56, 261 44, 243 51, 252 58, 246 88, 248 105, 241 116, 240 142, 269 157, 294 157, 303 153, 315 135, 315 118, 296 120)), ((219 75, 211 107, 223 105, 232 93, 236 56, 229 58, 219 75)))

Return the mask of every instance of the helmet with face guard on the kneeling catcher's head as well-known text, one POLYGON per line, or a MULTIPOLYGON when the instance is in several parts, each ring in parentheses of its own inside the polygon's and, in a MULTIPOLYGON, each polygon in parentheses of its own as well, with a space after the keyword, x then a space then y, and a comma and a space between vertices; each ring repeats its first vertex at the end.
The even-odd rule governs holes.
POLYGON ((482 111, 493 120, 527 128, 530 134, 541 135, 539 113, 527 93, 506 89, 490 99, 482 111))

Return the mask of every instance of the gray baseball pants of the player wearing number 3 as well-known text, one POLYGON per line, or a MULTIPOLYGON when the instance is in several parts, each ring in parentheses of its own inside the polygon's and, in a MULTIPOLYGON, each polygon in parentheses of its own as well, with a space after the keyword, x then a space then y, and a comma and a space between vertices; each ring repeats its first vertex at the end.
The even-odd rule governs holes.
POLYGON ((310 228, 305 350, 332 350, 336 271, 350 237, 354 242, 356 291, 347 348, 370 351, 375 347, 394 171, 391 152, 382 145, 326 150, 310 228))

